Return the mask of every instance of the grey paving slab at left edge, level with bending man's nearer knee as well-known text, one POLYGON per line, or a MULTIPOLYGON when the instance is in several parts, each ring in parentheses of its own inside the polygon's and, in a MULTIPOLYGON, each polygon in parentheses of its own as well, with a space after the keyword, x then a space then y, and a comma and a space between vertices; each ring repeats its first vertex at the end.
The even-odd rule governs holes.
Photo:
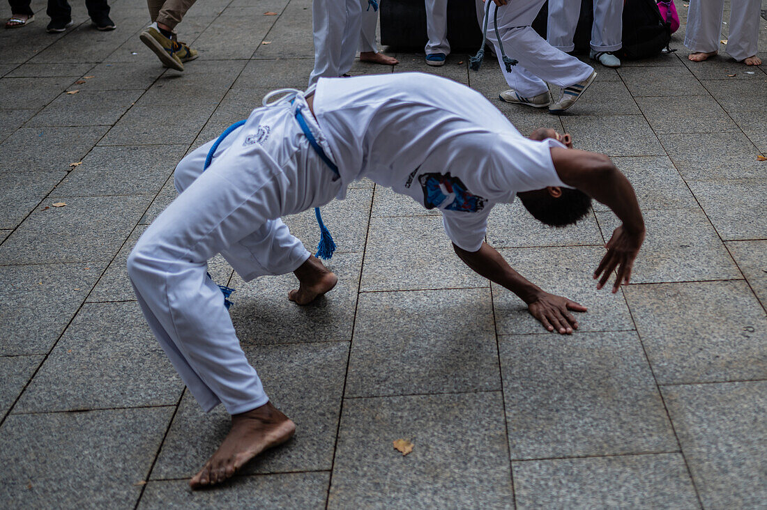
POLYGON ((101 264, 0 266, 0 356, 48 354, 96 284, 101 264))

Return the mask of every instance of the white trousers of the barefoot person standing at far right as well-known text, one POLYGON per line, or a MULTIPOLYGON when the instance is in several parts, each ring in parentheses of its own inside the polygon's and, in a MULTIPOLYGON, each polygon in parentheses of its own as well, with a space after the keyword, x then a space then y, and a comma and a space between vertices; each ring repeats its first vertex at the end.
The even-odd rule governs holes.
MULTIPOLYGON (((732 0, 727 53, 736 61, 756 54, 761 5, 761 0, 732 0)), ((724 0, 690 0, 684 45, 692 51, 718 51, 723 11, 724 0)))

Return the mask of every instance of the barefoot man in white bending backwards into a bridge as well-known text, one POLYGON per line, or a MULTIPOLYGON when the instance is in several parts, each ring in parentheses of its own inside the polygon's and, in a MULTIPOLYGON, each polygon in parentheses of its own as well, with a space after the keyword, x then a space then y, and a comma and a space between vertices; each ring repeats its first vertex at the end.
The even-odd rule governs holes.
POLYGON ((441 77, 328 78, 305 96, 295 90, 253 110, 205 171, 213 142, 179 163, 183 192, 141 236, 128 272, 190 393, 204 410, 223 403, 232 415, 229 435, 190 481, 193 488, 222 482, 295 431, 245 358, 222 294, 206 275, 207 261, 221 253, 245 280, 294 271, 299 288, 288 297, 307 304, 337 278, 279 217, 343 198, 355 179, 368 177, 441 209, 456 254, 525 300, 548 331, 571 333, 578 323, 570 311, 585 308, 533 285, 484 242, 495 203, 518 195, 534 216, 565 225, 588 213, 588 196, 604 202, 623 225, 594 278, 601 288, 617 268, 613 291, 629 280, 644 222, 627 179, 607 156, 568 149, 553 130, 535 138, 542 141, 522 137, 476 91, 441 77))

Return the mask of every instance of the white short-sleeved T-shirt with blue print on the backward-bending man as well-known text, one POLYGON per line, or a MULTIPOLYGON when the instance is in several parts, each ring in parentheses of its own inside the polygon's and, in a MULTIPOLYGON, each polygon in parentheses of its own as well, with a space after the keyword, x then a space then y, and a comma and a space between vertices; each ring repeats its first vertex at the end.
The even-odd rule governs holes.
POLYGON ((441 209, 447 235, 469 252, 495 203, 565 186, 550 152, 561 143, 523 137, 481 94, 431 74, 321 78, 314 115, 341 175, 339 198, 367 177, 441 209))

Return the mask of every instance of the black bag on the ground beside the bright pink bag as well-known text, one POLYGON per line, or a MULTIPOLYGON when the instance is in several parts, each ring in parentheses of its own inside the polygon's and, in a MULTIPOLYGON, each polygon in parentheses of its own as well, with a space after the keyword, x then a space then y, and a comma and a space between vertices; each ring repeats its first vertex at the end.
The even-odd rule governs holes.
POLYGON ((623 48, 621 58, 650 58, 668 47, 671 25, 667 23, 655 0, 626 0, 623 13, 623 48))

